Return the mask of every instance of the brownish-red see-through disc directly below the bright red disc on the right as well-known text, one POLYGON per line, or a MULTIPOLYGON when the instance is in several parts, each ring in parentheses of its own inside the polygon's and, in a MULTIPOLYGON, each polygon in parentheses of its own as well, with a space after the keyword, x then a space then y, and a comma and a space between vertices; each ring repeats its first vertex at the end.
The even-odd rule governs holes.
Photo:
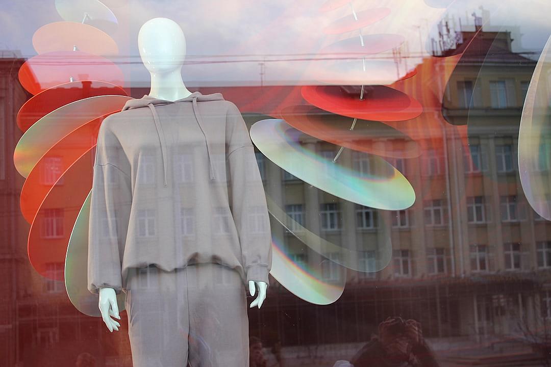
POLYGON ((377 121, 356 120, 327 113, 314 106, 289 106, 282 118, 301 132, 329 143, 383 157, 413 158, 420 153, 419 144, 409 136, 377 121))

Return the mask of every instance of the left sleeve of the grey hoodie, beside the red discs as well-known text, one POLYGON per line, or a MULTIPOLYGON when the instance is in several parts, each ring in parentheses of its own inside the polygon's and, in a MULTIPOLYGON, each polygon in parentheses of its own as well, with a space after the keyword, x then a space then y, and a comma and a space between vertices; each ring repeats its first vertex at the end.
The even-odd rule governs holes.
POLYGON ((100 126, 94 162, 88 227, 88 290, 122 291, 121 259, 124 253, 132 185, 120 142, 111 132, 109 117, 100 126))

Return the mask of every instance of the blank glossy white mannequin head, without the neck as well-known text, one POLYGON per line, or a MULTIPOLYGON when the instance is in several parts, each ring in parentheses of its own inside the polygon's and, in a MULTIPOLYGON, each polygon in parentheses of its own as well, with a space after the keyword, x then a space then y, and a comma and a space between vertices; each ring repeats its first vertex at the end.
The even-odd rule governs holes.
POLYGON ((180 69, 186 58, 186 37, 180 26, 167 18, 153 18, 138 34, 139 54, 150 73, 180 69))

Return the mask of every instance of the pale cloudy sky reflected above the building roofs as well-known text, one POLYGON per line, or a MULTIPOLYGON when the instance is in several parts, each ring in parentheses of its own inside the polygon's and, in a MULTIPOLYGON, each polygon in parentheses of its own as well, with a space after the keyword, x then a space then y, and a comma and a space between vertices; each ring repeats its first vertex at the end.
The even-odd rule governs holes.
MULTIPOLYGON (((64 0, 67 1, 67 0, 64 0)), ((97 0, 72 0, 73 4, 97 0)), ((327 35, 326 26, 350 14, 385 7, 386 18, 361 29, 363 35, 393 34, 404 37, 402 55, 408 63, 426 56, 426 45, 444 17, 450 24, 461 18, 463 29, 473 28, 476 12, 483 16, 485 30, 510 30, 514 51, 537 57, 551 33, 551 2, 548 0, 455 0, 449 7, 431 4, 450 0, 364 0, 328 12, 326 0, 105 0, 115 14, 118 28, 110 36, 119 47, 109 58, 120 66, 132 86, 149 85, 149 73, 141 62, 137 36, 145 21, 165 17, 178 23, 187 43, 182 76, 186 85, 230 86, 312 84, 306 72, 320 65, 322 47, 356 37, 359 31, 327 35), (261 65, 263 72, 261 76, 261 65)), ((36 55, 32 39, 42 25, 62 21, 56 10, 63 0, 21 0, 6 2, 0 10, 0 52, 18 50, 25 58, 36 55)), ((368 14, 368 13, 366 13, 368 14)), ((9 52, 2 52, 6 57, 9 52)), ((372 58, 391 59, 391 52, 372 58)))

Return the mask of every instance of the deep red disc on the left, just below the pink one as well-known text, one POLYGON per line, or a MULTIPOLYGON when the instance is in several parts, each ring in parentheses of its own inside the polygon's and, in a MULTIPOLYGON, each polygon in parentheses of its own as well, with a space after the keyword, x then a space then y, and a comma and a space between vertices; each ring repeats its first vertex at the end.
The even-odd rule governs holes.
POLYGON ((17 114, 17 125, 22 132, 26 132, 37 120, 54 109, 84 98, 104 95, 126 96, 126 92, 120 86, 98 80, 56 85, 31 97, 21 106, 17 114))

